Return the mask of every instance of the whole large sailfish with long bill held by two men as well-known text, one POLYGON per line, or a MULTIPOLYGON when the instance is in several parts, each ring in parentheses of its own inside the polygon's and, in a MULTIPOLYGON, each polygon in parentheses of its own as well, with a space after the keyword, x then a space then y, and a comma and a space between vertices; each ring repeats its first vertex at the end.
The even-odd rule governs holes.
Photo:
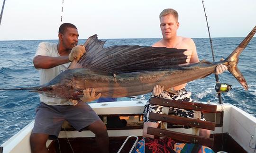
MULTIPOLYGON (((78 61, 45 85, 12 90, 31 90, 52 98, 77 100, 85 88, 94 88, 101 97, 128 97, 152 91, 155 85, 166 89, 209 76, 218 64, 228 67, 238 82, 248 89, 239 71, 238 57, 246 48, 256 26, 238 47, 224 60, 186 63, 187 56, 181 49, 149 46, 110 46, 93 35, 84 43, 86 52, 78 61)), ((6 89, 1 89, 6 90, 6 89)), ((10 89, 9 89, 10 90, 10 89)))

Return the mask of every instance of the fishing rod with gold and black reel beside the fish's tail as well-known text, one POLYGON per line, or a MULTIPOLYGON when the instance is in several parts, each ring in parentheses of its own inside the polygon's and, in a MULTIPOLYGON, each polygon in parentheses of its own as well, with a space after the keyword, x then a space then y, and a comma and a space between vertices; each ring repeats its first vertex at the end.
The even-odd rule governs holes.
MULTIPOLYGON (((214 53, 213 53, 213 47, 212 47, 212 39, 210 37, 210 26, 208 25, 207 15, 206 15, 206 12, 205 12, 205 7, 204 7, 203 2, 204 2, 204 0, 202 0, 202 5, 203 5, 204 15, 205 15, 205 19, 206 19, 209 39, 210 39, 210 48, 211 48, 211 53, 212 53, 212 60, 214 62, 215 59, 214 59, 214 53)), ((231 89, 231 85, 220 84, 219 83, 219 75, 216 75, 216 74, 215 74, 215 80, 216 80, 215 90, 218 93, 219 103, 222 104, 221 93, 228 92, 231 89)))

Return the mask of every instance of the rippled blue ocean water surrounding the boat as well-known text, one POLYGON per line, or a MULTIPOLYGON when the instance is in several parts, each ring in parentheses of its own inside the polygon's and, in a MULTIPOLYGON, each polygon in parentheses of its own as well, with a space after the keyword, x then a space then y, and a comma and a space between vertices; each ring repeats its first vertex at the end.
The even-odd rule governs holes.
MULTIPOLYGON (((215 59, 226 58, 244 38, 213 38, 215 59)), ((104 39, 103 39, 104 40, 104 39)), ((105 39, 105 47, 111 45, 151 46, 159 39, 105 39)), ((212 61, 209 38, 193 39, 199 59, 212 61)), ((33 67, 33 57, 39 42, 57 40, 0 41, 0 88, 36 86, 39 84, 37 70, 33 67)), ((80 40, 79 43, 84 43, 80 40)), ((239 57, 238 68, 249 85, 245 91, 238 81, 227 71, 219 76, 222 83, 232 85, 232 90, 222 94, 223 102, 229 102, 256 116, 256 38, 253 38, 239 57)), ((214 75, 190 82, 187 90, 195 101, 218 102, 214 89, 214 75)), ((137 96, 147 100, 149 94, 137 96)), ((119 98, 118 101, 137 100, 119 98)), ((35 117, 39 104, 37 93, 27 91, 0 91, 0 144, 30 123, 35 117)))

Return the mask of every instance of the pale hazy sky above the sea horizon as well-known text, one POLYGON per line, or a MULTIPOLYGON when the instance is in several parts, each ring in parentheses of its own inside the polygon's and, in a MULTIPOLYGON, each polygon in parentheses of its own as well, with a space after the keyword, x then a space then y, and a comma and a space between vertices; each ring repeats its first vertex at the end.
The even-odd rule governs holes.
MULTIPOLYGON (((159 14, 179 13, 178 35, 208 38, 201 0, 6 0, 1 40, 58 39, 61 23, 73 23, 80 39, 161 38, 159 14), (61 9, 63 7, 63 13, 61 9), (63 22, 61 22, 63 16, 63 22)), ((0 0, 2 8, 3 0, 0 0)), ((245 37, 256 26, 256 0, 204 0, 211 37, 245 37)))

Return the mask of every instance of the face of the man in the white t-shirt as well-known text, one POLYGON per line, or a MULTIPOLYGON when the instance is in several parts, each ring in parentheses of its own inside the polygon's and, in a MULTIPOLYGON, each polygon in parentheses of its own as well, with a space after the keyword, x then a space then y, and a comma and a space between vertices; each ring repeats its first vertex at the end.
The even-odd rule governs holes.
POLYGON ((72 50, 78 43, 78 31, 75 28, 68 27, 64 34, 61 34, 61 40, 65 49, 72 50))

